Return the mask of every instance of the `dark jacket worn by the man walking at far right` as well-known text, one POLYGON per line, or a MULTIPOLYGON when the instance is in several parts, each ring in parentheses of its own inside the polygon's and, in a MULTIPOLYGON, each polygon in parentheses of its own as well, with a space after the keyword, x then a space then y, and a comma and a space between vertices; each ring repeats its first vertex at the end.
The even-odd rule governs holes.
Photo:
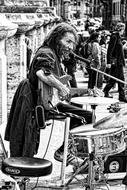
POLYGON ((116 59, 116 66, 125 65, 123 44, 118 32, 113 32, 107 50, 107 64, 112 64, 116 59))

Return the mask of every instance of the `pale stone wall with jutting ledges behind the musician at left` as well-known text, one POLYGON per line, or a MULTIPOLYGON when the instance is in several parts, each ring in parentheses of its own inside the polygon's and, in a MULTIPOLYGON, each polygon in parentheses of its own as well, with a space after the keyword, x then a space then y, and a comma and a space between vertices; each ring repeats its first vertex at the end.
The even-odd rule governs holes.
MULTIPOLYGON (((27 76, 26 37, 32 52, 42 44, 45 35, 59 22, 59 17, 45 13, 44 8, 0 6, 0 126, 4 135, 12 99, 20 81, 27 76), (12 11, 13 10, 13 11, 12 11), (18 11, 17 11, 18 10, 18 11)), ((46 9, 46 8, 45 8, 46 9)), ((49 10, 48 10, 49 12, 49 10)), ((52 12, 52 10, 51 10, 52 12)))

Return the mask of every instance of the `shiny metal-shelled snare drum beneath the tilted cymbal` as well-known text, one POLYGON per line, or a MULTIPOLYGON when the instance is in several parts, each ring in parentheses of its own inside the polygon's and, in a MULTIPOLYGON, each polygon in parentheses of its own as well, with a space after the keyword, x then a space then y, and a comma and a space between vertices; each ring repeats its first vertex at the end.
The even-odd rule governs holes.
MULTIPOLYGON (((91 152, 103 156, 118 154, 125 150, 124 136, 125 130, 123 128, 91 130, 72 134, 74 146, 82 144, 82 156, 91 152)), ((78 150, 79 147, 77 147, 78 150)))

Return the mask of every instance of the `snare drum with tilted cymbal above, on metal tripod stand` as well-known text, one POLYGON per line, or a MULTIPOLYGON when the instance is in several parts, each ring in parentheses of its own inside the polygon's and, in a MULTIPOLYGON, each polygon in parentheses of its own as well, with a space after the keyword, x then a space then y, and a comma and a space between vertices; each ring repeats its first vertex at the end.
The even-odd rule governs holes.
POLYGON ((126 149, 126 133, 126 109, 93 124, 84 124, 72 129, 70 131, 71 148, 69 151, 74 156, 84 159, 84 163, 76 168, 67 185, 75 175, 87 168, 87 177, 84 183, 86 189, 93 190, 96 185, 106 185, 110 189, 104 175, 104 163, 108 156, 121 153, 126 149))

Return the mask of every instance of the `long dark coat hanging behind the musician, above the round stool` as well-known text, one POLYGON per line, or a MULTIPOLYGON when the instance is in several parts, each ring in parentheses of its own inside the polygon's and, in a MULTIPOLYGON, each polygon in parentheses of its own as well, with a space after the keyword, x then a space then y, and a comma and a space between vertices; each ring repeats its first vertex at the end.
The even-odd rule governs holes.
POLYGON ((32 87, 25 79, 15 92, 5 131, 5 140, 10 141, 11 156, 32 157, 37 153, 39 130, 34 108, 32 87))

